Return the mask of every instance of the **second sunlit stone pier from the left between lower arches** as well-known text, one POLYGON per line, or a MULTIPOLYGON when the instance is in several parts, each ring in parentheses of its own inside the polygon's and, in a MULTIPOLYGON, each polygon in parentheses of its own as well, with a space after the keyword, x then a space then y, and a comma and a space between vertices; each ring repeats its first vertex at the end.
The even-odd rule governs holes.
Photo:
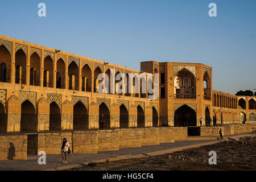
POLYGON ((49 102, 42 97, 38 101, 38 131, 49 130, 49 102))

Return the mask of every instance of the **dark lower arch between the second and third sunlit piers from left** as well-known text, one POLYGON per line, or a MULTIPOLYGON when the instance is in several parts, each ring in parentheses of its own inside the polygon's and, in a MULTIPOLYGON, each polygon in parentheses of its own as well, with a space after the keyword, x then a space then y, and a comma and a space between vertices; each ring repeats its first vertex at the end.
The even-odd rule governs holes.
POLYGON ((49 130, 60 130, 61 129, 61 115, 60 107, 56 102, 50 104, 50 115, 49 115, 49 130))

